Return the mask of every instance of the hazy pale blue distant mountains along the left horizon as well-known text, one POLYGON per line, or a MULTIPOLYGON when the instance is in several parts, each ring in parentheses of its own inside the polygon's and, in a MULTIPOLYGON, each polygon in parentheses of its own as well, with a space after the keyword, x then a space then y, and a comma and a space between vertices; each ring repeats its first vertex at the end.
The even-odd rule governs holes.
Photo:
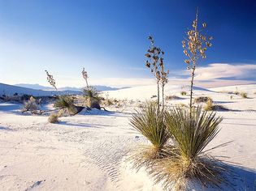
MULTIPOLYGON (((35 84, 29 84, 29 83, 18 83, 15 84, 15 86, 18 87, 26 87, 26 88, 32 88, 35 90, 46 90, 46 91, 54 91, 53 87, 45 87, 41 86, 38 83, 35 84)), ((118 89, 123 89, 122 88, 116 88, 116 87, 106 87, 106 86, 94 86, 98 91, 113 91, 113 90, 118 90, 118 89)), ((59 91, 82 91, 82 87, 60 87, 59 91)))

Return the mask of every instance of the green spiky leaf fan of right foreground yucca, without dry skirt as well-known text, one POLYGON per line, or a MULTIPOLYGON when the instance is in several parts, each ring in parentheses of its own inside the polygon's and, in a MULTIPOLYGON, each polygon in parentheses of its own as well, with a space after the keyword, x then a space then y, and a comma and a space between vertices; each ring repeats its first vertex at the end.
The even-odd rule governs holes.
POLYGON ((173 137, 173 142, 186 159, 194 159, 202 153, 208 143, 219 133, 219 123, 222 117, 216 117, 215 112, 202 112, 198 107, 190 117, 187 108, 172 108, 165 113, 167 130, 173 137))

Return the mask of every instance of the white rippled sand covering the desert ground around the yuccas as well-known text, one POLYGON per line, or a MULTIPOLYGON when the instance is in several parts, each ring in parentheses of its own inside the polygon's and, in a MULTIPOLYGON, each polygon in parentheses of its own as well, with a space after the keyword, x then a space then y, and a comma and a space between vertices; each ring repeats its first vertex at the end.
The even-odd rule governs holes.
MULTIPOLYGON (((256 85, 237 86, 248 99, 223 91, 197 88, 196 96, 210 96, 231 109, 223 116, 221 131, 209 147, 233 141, 213 151, 240 163, 236 168, 242 182, 237 190, 254 189, 256 180, 256 85), (220 92, 221 91, 221 92, 220 92)), ((180 87, 168 86, 166 94, 180 96, 180 87)), ((20 112, 20 104, 0 104, 0 190, 162 190, 143 170, 128 168, 124 158, 130 148, 145 142, 132 130, 129 117, 144 100, 154 95, 154 87, 132 87, 105 92, 126 104, 107 109, 113 112, 82 111, 74 117, 61 117, 50 124, 47 116, 20 112)), ((189 103, 189 96, 168 101, 168 105, 189 103)))

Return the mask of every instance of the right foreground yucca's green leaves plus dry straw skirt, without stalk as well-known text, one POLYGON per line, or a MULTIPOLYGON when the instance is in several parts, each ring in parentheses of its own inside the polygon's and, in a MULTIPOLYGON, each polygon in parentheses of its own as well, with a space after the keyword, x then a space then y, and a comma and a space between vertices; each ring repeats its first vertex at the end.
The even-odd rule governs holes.
POLYGON ((168 189, 185 190, 188 180, 217 187, 224 181, 225 169, 218 159, 204 151, 219 133, 219 123, 223 118, 215 117, 215 112, 202 112, 201 107, 192 111, 172 108, 165 113, 167 131, 176 150, 154 163, 151 174, 168 189))

